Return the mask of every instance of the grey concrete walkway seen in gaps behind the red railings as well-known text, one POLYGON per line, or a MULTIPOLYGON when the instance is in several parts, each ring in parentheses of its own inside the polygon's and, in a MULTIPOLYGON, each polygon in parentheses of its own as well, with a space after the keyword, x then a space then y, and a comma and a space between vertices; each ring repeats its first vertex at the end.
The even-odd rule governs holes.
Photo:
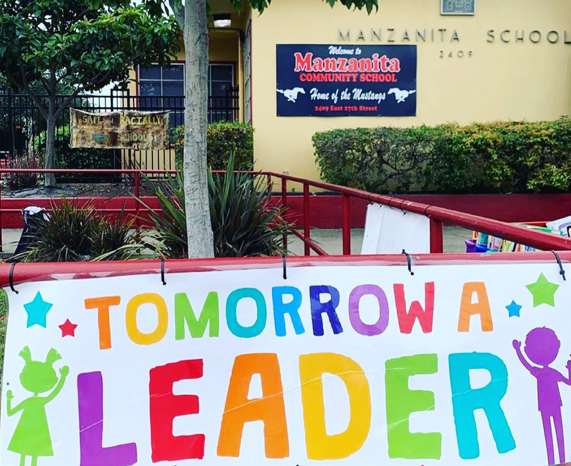
MULTIPOLYGON (((361 245, 363 245, 364 229, 355 228, 351 230, 351 252, 359 254, 361 245)), ((18 245, 18 241, 22 234, 21 229, 2 229, 2 251, 4 253, 13 253, 18 245)), ((341 230, 311 230, 311 237, 321 248, 332 256, 343 253, 343 244, 341 243, 341 230)), ((464 240, 472 237, 472 232, 457 226, 444 227, 444 252, 459 253, 465 252, 466 246, 464 240)), ((291 237, 289 251, 294 256, 303 256, 303 241, 296 236, 291 237)), ((315 253, 312 253, 315 254, 315 253)))

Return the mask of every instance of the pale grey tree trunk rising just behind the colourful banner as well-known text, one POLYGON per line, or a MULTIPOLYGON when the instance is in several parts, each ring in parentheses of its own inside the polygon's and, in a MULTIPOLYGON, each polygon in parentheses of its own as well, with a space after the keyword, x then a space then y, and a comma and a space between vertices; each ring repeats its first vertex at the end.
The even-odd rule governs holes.
POLYGON ((186 88, 184 109, 184 199, 188 257, 214 257, 208 202, 206 129, 208 124, 208 25, 206 0, 187 0, 184 8, 186 88))

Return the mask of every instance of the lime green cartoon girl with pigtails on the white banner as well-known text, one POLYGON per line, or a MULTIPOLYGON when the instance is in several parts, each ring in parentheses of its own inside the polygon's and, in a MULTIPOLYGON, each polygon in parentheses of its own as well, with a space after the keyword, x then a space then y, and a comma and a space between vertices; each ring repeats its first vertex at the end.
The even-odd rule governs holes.
POLYGON ((46 404, 53 400, 63 388, 69 367, 63 366, 59 370, 61 378, 52 367, 54 362, 61 359, 61 356, 53 348, 47 353, 46 362, 33 361, 29 347, 25 347, 19 354, 25 361, 24 368, 20 374, 20 382, 22 387, 32 392, 34 396, 30 396, 18 404, 15 408, 11 407, 14 395, 11 390, 6 394, 8 399, 9 416, 13 416, 18 411, 22 411, 22 416, 18 422, 18 426, 14 431, 9 451, 19 453, 21 456, 20 466, 25 466, 26 456, 31 456, 31 466, 37 466, 39 456, 54 456, 51 447, 50 429, 47 426, 46 404), (54 388, 55 387, 55 388, 54 388), (50 391, 47 396, 38 396, 38 394, 50 391))

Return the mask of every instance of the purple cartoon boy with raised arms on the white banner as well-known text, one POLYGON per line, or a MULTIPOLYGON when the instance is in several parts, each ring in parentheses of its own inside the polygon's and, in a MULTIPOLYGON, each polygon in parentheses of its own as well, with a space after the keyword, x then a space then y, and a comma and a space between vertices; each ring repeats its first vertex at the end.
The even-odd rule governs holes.
POLYGON ((521 342, 514 340, 513 347, 524 367, 537 379, 537 407, 541 412, 543 431, 545 433, 545 446, 547 448, 547 459, 549 464, 555 464, 553 453, 553 433, 551 429, 551 419, 555 427, 557 437, 557 447, 559 450, 559 460, 565 463, 565 443, 563 439, 563 423, 561 420, 561 394, 559 392, 559 382, 571 385, 571 360, 567 362, 568 377, 565 378, 559 371, 549 367, 559 352, 561 342, 555 332, 546 327, 533 329, 525 337, 525 354, 531 362, 540 367, 532 366, 521 353, 521 342))

